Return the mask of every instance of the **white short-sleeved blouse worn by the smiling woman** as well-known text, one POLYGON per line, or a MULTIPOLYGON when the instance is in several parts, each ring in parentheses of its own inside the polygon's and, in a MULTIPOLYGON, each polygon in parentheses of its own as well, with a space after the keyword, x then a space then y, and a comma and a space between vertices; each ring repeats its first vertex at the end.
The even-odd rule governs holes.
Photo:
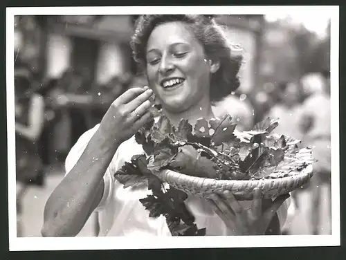
MULTIPOLYGON (((73 146, 66 158, 66 174, 77 163, 99 125, 86 131, 73 146)), ((113 176, 125 161, 129 162, 136 154, 144 154, 144 151, 134 137, 122 142, 104 174, 104 194, 95 209, 100 216, 100 236, 171 236, 165 217, 149 218, 149 211, 139 201, 150 194, 150 191, 125 189, 113 176)), ((212 207, 201 198, 189 196, 185 202, 195 216, 197 227, 206 228, 206 235, 233 235, 212 207)), ((248 204, 251 201, 241 203, 248 204)), ((287 199, 277 212, 281 227, 286 221, 289 204, 290 199, 287 199)), ((250 205, 244 207, 248 208, 250 205)))

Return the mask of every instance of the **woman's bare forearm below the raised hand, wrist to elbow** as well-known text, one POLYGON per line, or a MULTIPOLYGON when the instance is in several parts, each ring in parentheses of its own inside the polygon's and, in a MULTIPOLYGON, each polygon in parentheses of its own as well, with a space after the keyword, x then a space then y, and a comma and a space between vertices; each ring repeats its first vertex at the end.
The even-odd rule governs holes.
POLYGON ((101 201, 103 176, 118 148, 94 133, 78 162, 46 202, 42 236, 76 236, 101 201), (102 159, 99 159, 102 158, 102 159))

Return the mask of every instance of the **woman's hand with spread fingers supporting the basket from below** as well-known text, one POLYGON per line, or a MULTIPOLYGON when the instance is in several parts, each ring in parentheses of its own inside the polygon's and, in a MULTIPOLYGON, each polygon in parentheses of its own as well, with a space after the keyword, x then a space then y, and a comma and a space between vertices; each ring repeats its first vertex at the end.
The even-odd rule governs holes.
POLYGON ((229 191, 224 192, 222 198, 213 194, 210 201, 215 212, 236 235, 256 235, 265 234, 273 216, 287 198, 289 194, 278 196, 275 201, 264 200, 261 190, 256 188, 250 209, 244 209, 229 191))

